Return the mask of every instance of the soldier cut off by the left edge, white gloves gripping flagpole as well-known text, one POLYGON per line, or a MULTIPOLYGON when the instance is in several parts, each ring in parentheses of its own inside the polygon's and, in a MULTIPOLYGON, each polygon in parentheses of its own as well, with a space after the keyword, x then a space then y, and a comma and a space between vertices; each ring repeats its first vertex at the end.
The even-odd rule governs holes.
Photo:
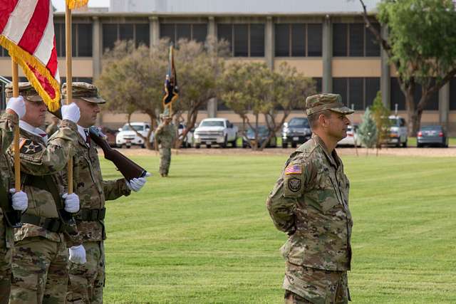
MULTIPOLYGON (((10 98, 6 110, 0 117, 0 182, 3 189, 9 189, 12 194, 12 207, 16 211, 25 211, 28 206, 27 194, 16 192, 14 187, 14 172, 9 157, 5 154, 14 138, 14 127, 26 113, 24 99, 10 98)), ((8 194, 6 194, 8 195, 8 194)), ((9 204, 9 203, 8 203, 9 204)), ((0 209, 0 304, 9 302, 11 290, 11 258, 14 246, 13 228, 4 219, 4 211, 0 209)))

